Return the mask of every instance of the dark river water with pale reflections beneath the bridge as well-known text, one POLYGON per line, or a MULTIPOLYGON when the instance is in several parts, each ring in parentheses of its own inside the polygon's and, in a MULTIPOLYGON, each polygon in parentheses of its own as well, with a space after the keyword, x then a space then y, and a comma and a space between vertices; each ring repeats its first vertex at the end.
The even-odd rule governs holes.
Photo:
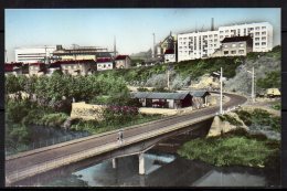
POLYGON ((279 169, 247 167, 214 167, 202 161, 188 160, 176 150, 194 135, 180 135, 160 142, 145 153, 145 176, 138 174, 138 157, 118 158, 99 163, 87 159, 73 168, 61 168, 21 185, 38 187, 269 187, 280 182, 279 169))

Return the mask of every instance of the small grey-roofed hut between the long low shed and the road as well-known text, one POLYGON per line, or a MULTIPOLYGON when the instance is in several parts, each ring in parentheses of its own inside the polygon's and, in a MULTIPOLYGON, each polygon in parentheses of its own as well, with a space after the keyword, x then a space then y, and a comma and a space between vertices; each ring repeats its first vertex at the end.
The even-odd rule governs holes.
POLYGON ((210 93, 206 91, 193 91, 189 92, 192 95, 192 105, 195 108, 209 106, 210 93))

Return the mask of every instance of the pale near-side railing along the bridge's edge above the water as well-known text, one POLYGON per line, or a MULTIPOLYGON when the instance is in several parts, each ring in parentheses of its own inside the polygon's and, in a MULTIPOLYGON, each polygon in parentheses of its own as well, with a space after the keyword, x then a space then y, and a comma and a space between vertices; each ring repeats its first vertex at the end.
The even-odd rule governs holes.
MULTIPOLYGON (((188 125, 188 124, 191 124, 191 123, 192 124, 199 123, 199 121, 205 120, 208 118, 211 118, 214 115, 216 115, 216 114, 211 114, 211 115, 208 115, 208 116, 198 117, 195 119, 184 121, 184 123, 180 123, 180 124, 181 124, 181 126, 184 126, 184 124, 188 125)), ((141 134, 139 136, 129 137, 128 139, 130 139, 130 140, 125 141, 124 145, 119 145, 117 141, 107 142, 107 144, 100 145, 99 147, 95 147, 95 148, 92 148, 92 149, 88 149, 88 150, 75 152, 75 153, 68 155, 66 157, 59 157, 59 158, 55 158, 53 160, 45 161, 45 162, 42 162, 42 163, 38 163, 35 166, 32 166, 32 167, 17 169, 15 172, 7 176, 7 180, 10 181, 10 182, 17 182, 19 180, 22 180, 22 179, 28 178, 28 177, 35 176, 35 174, 41 173, 41 172, 45 172, 45 171, 49 171, 49 170, 52 170, 52 169, 75 162, 75 161, 79 161, 79 160, 83 160, 83 159, 86 159, 86 158, 94 157, 96 153, 105 152, 105 150, 107 151, 107 150, 110 150, 113 148, 119 148, 119 147, 125 146, 127 144, 131 144, 131 142, 135 142, 135 141, 138 141, 138 140, 144 140, 144 139, 147 139, 147 138, 150 138, 150 137, 158 136, 158 135, 160 135, 160 132, 162 130, 169 131, 169 130, 172 130, 172 128, 170 128, 170 129, 169 128, 167 128, 167 129, 164 129, 164 128, 163 129, 156 129, 156 130, 152 130, 152 131, 146 131, 146 132, 144 132, 144 135, 141 134), (139 137, 139 138, 137 138, 137 137, 139 137)))

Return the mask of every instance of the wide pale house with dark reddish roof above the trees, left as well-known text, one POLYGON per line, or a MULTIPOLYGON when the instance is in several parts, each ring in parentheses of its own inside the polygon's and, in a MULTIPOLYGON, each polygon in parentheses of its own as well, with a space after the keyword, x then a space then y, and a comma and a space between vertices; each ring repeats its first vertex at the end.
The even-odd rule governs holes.
POLYGON ((95 67, 94 60, 78 60, 78 61, 59 61, 54 63, 60 63, 63 74, 70 75, 87 75, 91 74, 95 67))

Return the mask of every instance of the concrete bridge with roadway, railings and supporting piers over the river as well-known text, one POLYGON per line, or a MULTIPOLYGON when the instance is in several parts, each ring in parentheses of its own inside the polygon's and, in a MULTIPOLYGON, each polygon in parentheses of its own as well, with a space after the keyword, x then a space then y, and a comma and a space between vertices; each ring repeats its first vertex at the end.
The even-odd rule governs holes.
MULTIPOLYGON (((224 108, 246 102, 245 97, 238 95, 225 95, 231 99, 224 104, 224 108)), ((203 108, 192 114, 172 116, 126 128, 123 144, 117 141, 118 131, 114 130, 8 157, 6 160, 7 185, 92 157, 98 161, 113 159, 113 167, 116 168, 117 158, 138 155, 139 173, 145 174, 145 151, 169 137, 201 127, 210 127, 217 110, 217 106, 203 108)), ((209 129, 200 130, 206 134, 209 129)))

